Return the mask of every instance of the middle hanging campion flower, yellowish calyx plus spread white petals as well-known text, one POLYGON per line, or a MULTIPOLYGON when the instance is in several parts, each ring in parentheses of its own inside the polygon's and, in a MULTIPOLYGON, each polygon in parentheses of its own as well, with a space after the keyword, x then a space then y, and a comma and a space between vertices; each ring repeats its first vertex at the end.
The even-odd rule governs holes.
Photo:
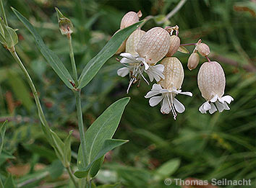
POLYGON ((175 98, 176 95, 186 94, 192 97, 192 93, 181 90, 184 70, 178 58, 164 58, 161 64, 165 67, 163 71, 165 79, 161 79, 158 84, 153 84, 153 88, 146 94, 145 98, 151 97, 149 100, 151 107, 161 102, 161 112, 163 114, 172 112, 174 120, 176 120, 176 112, 182 113, 185 110, 184 105, 175 98), (158 94, 161 95, 156 96, 158 94))

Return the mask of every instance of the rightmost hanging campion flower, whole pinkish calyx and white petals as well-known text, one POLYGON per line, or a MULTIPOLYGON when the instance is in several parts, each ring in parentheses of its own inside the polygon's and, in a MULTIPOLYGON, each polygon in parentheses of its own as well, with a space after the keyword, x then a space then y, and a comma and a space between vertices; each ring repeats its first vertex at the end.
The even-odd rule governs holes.
POLYGON ((219 112, 230 109, 227 103, 230 104, 234 99, 229 95, 222 97, 226 79, 223 68, 218 62, 210 61, 202 64, 198 72, 197 84, 202 97, 206 100, 199 108, 202 114, 206 114, 208 110, 210 114, 213 114, 217 109, 219 112))

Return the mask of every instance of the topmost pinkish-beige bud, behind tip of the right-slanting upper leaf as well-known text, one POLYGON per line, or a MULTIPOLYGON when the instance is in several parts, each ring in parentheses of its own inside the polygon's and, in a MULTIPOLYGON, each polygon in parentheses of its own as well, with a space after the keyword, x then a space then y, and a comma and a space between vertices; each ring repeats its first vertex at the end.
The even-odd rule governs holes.
POLYGON ((142 13, 139 11, 136 12, 127 12, 124 17, 121 19, 120 29, 124 29, 125 27, 129 27, 132 24, 139 22, 140 17, 142 17, 142 13))

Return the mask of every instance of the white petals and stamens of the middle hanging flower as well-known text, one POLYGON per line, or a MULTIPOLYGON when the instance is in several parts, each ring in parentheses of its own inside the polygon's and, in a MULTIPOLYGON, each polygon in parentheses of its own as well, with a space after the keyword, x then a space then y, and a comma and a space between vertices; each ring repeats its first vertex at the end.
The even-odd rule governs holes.
POLYGON ((184 105, 175 98, 177 94, 186 94, 192 97, 191 92, 182 92, 182 90, 177 90, 174 86, 172 89, 163 89, 160 84, 153 84, 151 91, 146 94, 145 98, 151 97, 149 100, 151 107, 155 107, 161 102, 161 112, 163 114, 172 112, 174 120, 176 120, 176 112, 182 113, 185 110, 184 105), (156 96, 158 94, 160 96, 156 96))

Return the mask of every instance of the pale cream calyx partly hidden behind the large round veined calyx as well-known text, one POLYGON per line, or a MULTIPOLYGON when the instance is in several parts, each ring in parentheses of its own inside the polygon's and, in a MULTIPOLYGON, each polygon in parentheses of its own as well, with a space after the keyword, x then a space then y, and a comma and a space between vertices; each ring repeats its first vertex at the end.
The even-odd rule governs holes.
POLYGON ((145 31, 137 29, 134 32, 132 32, 132 35, 130 35, 127 39, 126 44, 126 52, 130 53, 132 55, 137 55, 137 52, 135 51, 135 48, 137 44, 140 42, 140 39, 143 35, 145 35, 145 31))

